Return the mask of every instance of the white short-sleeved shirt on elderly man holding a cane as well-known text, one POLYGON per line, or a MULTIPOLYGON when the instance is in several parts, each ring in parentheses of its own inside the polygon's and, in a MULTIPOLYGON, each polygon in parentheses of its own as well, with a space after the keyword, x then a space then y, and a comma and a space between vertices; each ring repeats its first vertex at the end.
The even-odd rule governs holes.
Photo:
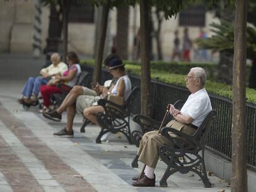
POLYGON ((181 114, 189 115, 194 119, 193 125, 200 127, 203 120, 211 111, 211 101, 205 88, 190 94, 181 109, 181 114))

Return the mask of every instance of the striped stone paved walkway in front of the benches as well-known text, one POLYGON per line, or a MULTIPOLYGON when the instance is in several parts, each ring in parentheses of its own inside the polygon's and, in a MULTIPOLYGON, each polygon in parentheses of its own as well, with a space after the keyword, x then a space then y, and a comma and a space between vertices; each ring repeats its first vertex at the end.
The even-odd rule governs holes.
POLYGON ((130 163, 137 148, 126 138, 112 135, 109 142, 96 144, 99 127, 88 126, 79 133, 82 116, 74 123, 74 138, 55 138, 65 126, 38 114, 36 107, 25 111, 17 102, 24 80, 0 80, 0 191, 230 191, 228 183, 209 177, 212 188, 203 188, 193 173, 175 173, 168 187, 159 181, 166 165, 156 167, 156 187, 136 188, 131 178, 139 175, 130 163))

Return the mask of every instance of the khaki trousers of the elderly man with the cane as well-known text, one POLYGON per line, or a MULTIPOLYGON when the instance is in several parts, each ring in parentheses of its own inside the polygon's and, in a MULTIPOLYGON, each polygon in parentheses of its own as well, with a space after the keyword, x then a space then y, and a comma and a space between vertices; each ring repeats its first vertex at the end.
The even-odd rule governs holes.
MULTIPOLYGON (((193 135, 196 131, 195 128, 183 123, 179 123, 176 120, 169 122, 166 127, 175 128, 176 130, 188 135, 193 135)), ((172 137, 176 136, 174 133, 169 134, 172 137)), ((140 141, 140 147, 137 152, 139 161, 155 169, 159 159, 158 148, 162 144, 171 145, 172 143, 165 136, 161 135, 160 133, 158 134, 158 130, 145 133, 140 141)))

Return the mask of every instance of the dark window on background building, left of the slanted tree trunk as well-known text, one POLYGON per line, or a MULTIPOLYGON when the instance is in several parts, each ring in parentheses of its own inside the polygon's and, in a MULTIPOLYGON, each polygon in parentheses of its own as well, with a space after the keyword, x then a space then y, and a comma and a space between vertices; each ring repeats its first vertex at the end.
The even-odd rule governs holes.
POLYGON ((72 23, 93 23, 94 6, 86 2, 74 2, 69 10, 69 22, 72 23))

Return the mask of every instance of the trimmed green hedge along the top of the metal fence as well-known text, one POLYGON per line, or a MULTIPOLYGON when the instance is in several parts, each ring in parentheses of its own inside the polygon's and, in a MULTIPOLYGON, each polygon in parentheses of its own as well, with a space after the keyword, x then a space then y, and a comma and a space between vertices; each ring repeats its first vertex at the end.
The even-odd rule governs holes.
MULTIPOLYGON (((80 64, 86 64, 93 67, 94 61, 93 60, 85 60, 81 61, 80 64)), ((169 65, 174 64, 168 64, 167 62, 151 62, 151 78, 158 78, 158 81, 161 81, 163 83, 171 83, 173 85, 179 85, 179 86, 185 86, 185 75, 189 72, 189 69, 192 67, 203 67, 207 69, 216 69, 213 67, 216 64, 177 64, 176 66, 179 67, 179 69, 184 70, 184 74, 177 74, 177 69, 173 70, 166 70, 166 67, 169 65), (163 66, 158 66, 163 65, 163 66), (206 67, 205 67, 206 66, 206 67), (185 73, 186 70, 186 73, 185 73)), ((175 68, 171 66, 170 68, 175 68)), ((140 65, 137 62, 126 62, 126 70, 127 73, 132 75, 141 75, 140 65)), ((209 72, 209 70, 207 71, 209 72)), ((208 73, 207 73, 208 74, 208 73)), ((224 83, 217 83, 213 80, 207 80, 207 83, 205 85, 205 88, 209 93, 213 93, 216 95, 224 96, 226 98, 233 98, 232 93, 232 85, 226 85, 224 83)), ((247 102, 252 102, 256 104, 256 90, 246 88, 246 98, 247 102)))

